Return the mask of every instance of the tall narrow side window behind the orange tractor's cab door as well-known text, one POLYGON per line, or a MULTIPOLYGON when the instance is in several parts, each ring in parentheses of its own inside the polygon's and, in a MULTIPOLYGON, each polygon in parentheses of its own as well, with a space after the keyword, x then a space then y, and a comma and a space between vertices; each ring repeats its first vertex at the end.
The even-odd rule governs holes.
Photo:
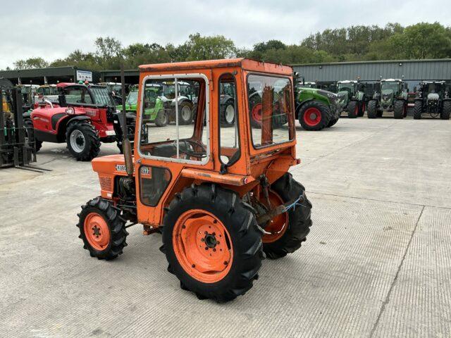
POLYGON ((241 156, 237 119, 235 77, 221 75, 219 88, 219 158, 223 164, 231 165, 241 156))

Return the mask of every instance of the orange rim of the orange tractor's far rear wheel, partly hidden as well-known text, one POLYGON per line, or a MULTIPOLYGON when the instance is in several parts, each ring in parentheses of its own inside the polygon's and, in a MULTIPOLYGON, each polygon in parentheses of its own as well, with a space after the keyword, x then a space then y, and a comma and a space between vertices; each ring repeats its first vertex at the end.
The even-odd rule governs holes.
MULTIPOLYGON (((272 190, 268 190, 268 197, 269 201, 271 203, 270 210, 273 210, 274 208, 280 206, 283 204, 283 199, 280 198, 276 192, 273 192, 272 190)), ((263 192, 260 194, 259 201, 261 204, 264 204, 268 208, 268 202, 266 201, 263 192)), ((265 231, 269 232, 269 234, 264 234, 263 238, 261 239, 264 243, 272 243, 276 242, 280 237, 285 234, 285 231, 287 231, 288 227, 288 213, 280 213, 279 215, 276 215, 274 218, 272 218, 269 221, 269 224, 265 227, 265 231)))

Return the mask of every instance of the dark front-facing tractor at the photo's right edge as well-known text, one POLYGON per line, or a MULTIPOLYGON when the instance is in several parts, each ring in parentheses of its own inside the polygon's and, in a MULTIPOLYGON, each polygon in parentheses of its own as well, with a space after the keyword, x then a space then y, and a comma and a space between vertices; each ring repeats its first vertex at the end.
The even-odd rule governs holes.
POLYGON ((449 120, 451 114, 450 85, 445 81, 423 81, 420 83, 418 95, 415 97, 414 119, 419 120, 423 113, 431 118, 440 116, 449 120))

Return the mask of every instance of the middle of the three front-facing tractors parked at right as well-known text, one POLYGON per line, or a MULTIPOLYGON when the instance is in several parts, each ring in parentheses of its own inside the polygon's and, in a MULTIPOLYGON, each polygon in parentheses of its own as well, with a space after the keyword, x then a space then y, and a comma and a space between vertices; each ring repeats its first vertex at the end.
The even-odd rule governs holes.
POLYGON ((394 118, 405 118, 408 96, 407 82, 400 79, 381 80, 368 103, 368 118, 381 118, 384 111, 393 111, 394 118))

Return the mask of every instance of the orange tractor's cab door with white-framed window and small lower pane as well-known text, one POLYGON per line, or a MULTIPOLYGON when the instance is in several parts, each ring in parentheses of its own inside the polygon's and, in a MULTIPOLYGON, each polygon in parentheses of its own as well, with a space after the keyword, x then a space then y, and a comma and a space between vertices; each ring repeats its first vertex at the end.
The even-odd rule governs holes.
POLYGON ((177 183, 187 180, 181 175, 184 168, 213 169, 210 154, 209 87, 209 79, 203 73, 142 77, 138 101, 140 132, 135 139, 135 180, 140 223, 153 227, 161 225, 163 206, 172 199, 177 183), (147 101, 144 99, 144 88, 159 85, 163 87, 165 82, 174 83, 175 97, 167 99, 161 96, 159 99, 163 101, 163 105, 155 106, 158 110, 155 114, 156 118, 165 114, 168 118, 172 117, 168 120, 175 122, 158 127, 144 116, 144 101, 147 101), (179 119, 179 82, 187 82, 197 88, 195 94, 200 98, 193 106, 196 118, 190 124, 182 125, 181 118, 179 119))

